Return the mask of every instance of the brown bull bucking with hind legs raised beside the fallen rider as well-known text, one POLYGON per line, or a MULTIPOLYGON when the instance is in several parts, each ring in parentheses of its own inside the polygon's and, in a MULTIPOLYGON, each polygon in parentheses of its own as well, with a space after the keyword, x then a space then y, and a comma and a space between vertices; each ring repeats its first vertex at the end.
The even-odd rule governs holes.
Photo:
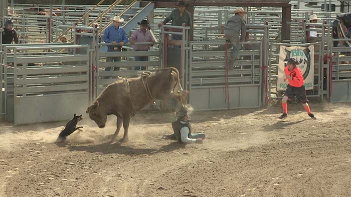
POLYGON ((117 116, 117 128, 111 139, 113 142, 122 126, 122 141, 128 140, 129 120, 133 113, 143 108, 154 99, 167 97, 186 98, 180 84, 179 71, 174 67, 158 69, 149 75, 118 80, 108 85, 86 110, 96 124, 105 127, 107 115, 117 116))

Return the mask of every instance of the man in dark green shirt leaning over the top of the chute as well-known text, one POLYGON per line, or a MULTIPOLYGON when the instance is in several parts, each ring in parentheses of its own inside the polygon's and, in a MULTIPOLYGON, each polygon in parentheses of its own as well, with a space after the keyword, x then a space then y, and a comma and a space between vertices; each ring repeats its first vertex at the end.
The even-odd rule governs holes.
MULTIPOLYGON (((189 35, 192 34, 192 15, 188 10, 185 10, 186 3, 184 0, 181 0, 178 2, 178 4, 175 4, 178 6, 178 8, 173 9, 173 11, 166 17, 164 18, 163 21, 158 23, 158 27, 161 26, 161 24, 167 23, 169 20, 172 20, 171 25, 174 26, 182 26, 183 23, 185 26, 190 26, 189 29, 189 35)), ((182 39, 182 35, 175 35, 172 34, 172 39, 182 39)))

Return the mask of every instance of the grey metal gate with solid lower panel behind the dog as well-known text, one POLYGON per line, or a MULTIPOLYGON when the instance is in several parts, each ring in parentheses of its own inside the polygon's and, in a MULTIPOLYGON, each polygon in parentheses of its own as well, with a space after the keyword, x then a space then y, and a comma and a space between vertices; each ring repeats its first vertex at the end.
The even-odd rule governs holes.
POLYGON ((66 120, 88 105, 88 45, 4 46, 7 119, 15 125, 66 120), (85 53, 79 52, 85 51, 85 53))

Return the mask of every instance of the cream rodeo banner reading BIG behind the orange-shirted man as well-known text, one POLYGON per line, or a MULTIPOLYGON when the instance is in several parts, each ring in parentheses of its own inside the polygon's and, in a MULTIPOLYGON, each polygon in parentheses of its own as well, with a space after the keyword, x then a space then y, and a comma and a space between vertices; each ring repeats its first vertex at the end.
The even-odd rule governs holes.
POLYGON ((280 46, 279 65, 278 65, 278 90, 285 90, 288 80, 284 82, 284 67, 287 66, 287 60, 293 57, 300 62, 298 67, 301 68, 305 89, 313 89, 313 70, 314 70, 314 46, 280 46))

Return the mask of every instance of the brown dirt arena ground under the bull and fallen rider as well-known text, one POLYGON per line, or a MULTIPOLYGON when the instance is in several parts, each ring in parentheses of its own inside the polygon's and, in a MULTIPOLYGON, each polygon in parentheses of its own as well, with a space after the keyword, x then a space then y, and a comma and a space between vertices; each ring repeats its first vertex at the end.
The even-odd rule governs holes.
POLYGON ((139 113, 129 141, 115 117, 54 143, 66 122, 0 123, 0 196, 351 196, 351 104, 290 104, 192 114, 203 144, 166 139, 171 113, 139 113), (120 133, 119 138, 122 136, 120 133))

